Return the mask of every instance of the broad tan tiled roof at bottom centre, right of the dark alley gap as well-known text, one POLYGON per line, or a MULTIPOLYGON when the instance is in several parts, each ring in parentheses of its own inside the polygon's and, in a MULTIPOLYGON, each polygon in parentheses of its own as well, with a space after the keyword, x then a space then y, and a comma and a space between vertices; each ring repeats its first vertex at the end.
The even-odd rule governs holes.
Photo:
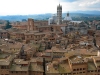
POLYGON ((68 61, 66 63, 53 61, 46 66, 46 73, 71 73, 71 71, 68 61))

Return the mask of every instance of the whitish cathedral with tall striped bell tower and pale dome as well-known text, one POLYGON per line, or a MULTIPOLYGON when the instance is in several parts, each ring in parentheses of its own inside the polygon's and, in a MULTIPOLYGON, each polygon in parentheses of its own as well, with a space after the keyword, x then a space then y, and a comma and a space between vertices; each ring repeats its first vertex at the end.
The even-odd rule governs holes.
POLYGON ((51 18, 48 19, 48 25, 51 24, 57 24, 60 25, 66 21, 72 21, 72 18, 69 16, 69 12, 65 16, 64 19, 62 19, 62 6, 59 4, 57 6, 57 14, 53 14, 51 18))

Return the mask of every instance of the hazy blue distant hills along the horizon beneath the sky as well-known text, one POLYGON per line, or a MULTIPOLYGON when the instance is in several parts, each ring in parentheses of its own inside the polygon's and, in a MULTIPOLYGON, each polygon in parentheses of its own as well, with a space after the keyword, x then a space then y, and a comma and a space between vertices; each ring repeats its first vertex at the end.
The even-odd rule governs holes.
MULTIPOLYGON (((9 21, 22 21, 28 18, 33 18, 35 20, 48 20, 52 16, 52 13, 47 14, 38 14, 38 15, 9 15, 9 16, 0 16, 2 20, 9 21)), ((62 14, 63 18, 66 16, 66 13, 62 14)), ((75 17, 100 17, 100 11, 75 11, 70 12, 70 16, 75 17)))

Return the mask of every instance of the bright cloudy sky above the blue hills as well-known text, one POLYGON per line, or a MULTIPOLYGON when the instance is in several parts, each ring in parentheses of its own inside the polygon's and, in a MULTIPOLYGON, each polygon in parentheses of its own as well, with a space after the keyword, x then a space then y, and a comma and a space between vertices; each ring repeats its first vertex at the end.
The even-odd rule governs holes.
POLYGON ((100 10, 100 0, 0 0, 0 15, 56 13, 59 3, 63 12, 100 10))

